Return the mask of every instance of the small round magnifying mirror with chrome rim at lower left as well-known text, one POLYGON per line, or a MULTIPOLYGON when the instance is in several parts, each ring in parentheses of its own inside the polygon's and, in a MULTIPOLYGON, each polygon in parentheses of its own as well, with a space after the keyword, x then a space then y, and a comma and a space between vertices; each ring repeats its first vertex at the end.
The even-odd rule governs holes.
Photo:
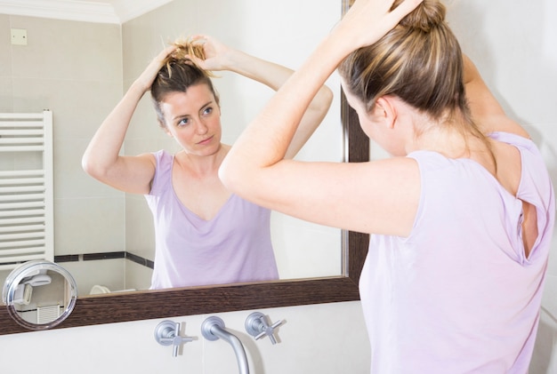
POLYGON ((34 260, 12 270, 2 300, 15 322, 29 330, 57 326, 76 306, 77 283, 68 270, 47 260, 34 260))

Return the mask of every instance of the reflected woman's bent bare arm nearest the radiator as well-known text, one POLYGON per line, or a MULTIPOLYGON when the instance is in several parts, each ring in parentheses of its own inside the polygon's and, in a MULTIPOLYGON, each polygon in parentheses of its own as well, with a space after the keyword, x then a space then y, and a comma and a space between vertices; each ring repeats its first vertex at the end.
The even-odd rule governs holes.
POLYGON ((82 159, 84 170, 93 178, 125 192, 149 193, 150 182, 155 175, 154 156, 123 156, 119 152, 137 104, 149 91, 161 61, 173 50, 174 47, 169 47, 159 53, 94 134, 82 159))

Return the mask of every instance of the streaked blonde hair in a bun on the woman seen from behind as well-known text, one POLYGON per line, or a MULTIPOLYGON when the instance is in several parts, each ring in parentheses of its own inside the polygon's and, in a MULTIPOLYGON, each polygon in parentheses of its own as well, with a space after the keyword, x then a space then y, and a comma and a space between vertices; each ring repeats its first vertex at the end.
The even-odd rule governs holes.
POLYGON ((345 89, 367 111, 376 99, 395 95, 432 120, 459 126, 464 139, 468 134, 481 139, 491 152, 488 139, 472 121, 462 52, 445 14, 439 1, 424 0, 378 42, 347 56, 338 71, 345 89), (455 117, 462 121, 453 121, 455 117))

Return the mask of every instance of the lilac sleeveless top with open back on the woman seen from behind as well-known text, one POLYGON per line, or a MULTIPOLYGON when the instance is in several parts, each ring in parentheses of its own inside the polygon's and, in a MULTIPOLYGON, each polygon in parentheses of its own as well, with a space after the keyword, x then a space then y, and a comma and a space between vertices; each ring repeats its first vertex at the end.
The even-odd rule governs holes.
POLYGON ((372 373, 528 372, 554 193, 531 140, 504 132, 490 137, 520 150, 516 196, 470 159, 408 155, 421 174, 414 227, 408 237, 371 235, 360 277, 372 373), (528 258, 519 199, 537 210, 528 258))

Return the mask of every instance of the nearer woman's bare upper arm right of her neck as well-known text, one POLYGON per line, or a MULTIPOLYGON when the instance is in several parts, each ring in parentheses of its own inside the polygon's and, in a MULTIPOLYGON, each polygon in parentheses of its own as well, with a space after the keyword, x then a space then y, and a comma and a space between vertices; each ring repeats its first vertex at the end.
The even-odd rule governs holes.
POLYGON ((466 98, 474 121, 484 133, 493 131, 512 132, 529 138, 519 123, 515 123, 505 115, 503 107, 499 105, 495 96, 489 91, 480 76, 480 72, 467 56, 464 55, 464 87, 466 98))

